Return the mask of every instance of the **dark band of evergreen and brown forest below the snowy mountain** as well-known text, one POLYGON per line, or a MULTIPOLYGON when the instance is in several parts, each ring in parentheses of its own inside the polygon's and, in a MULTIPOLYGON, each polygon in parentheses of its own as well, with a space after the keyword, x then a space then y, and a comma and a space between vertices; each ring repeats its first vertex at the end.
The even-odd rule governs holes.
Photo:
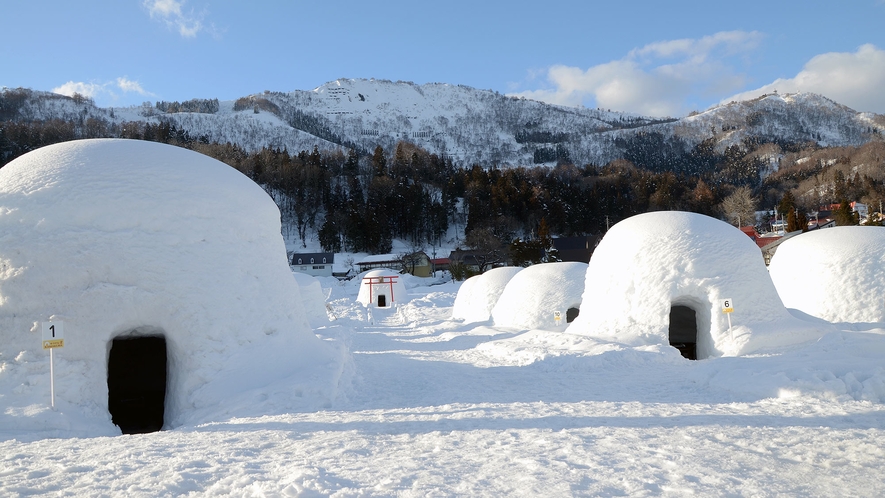
MULTIPOLYGON (((198 104, 206 105, 188 105, 198 104)), ((334 252, 388 253, 394 238, 416 249, 451 245, 444 237, 453 225, 465 234, 455 242, 466 248, 480 240, 504 246, 537 240, 542 226, 544 236, 593 235, 657 210, 746 225, 753 211, 776 209, 801 228, 801 220, 820 206, 859 201, 878 209, 885 199, 881 141, 823 148, 745 140, 717 152, 711 138, 684 152, 649 133, 632 138, 624 144, 625 157, 604 165, 576 165, 554 154, 555 165, 483 168, 453 164, 406 141, 394 150, 378 146, 362 154, 317 147, 248 153, 190 136, 169 121, 117 125, 89 118, 2 122, 0 167, 38 147, 100 137, 163 142, 214 157, 267 191, 280 208, 284 231, 294 231, 287 235, 306 244, 316 233, 323 249, 334 252), (777 171, 761 179, 763 149, 775 149, 781 159, 777 171)), ((759 230, 766 230, 765 221, 758 222, 759 230)), ((839 220, 860 221, 849 215, 839 220)))

